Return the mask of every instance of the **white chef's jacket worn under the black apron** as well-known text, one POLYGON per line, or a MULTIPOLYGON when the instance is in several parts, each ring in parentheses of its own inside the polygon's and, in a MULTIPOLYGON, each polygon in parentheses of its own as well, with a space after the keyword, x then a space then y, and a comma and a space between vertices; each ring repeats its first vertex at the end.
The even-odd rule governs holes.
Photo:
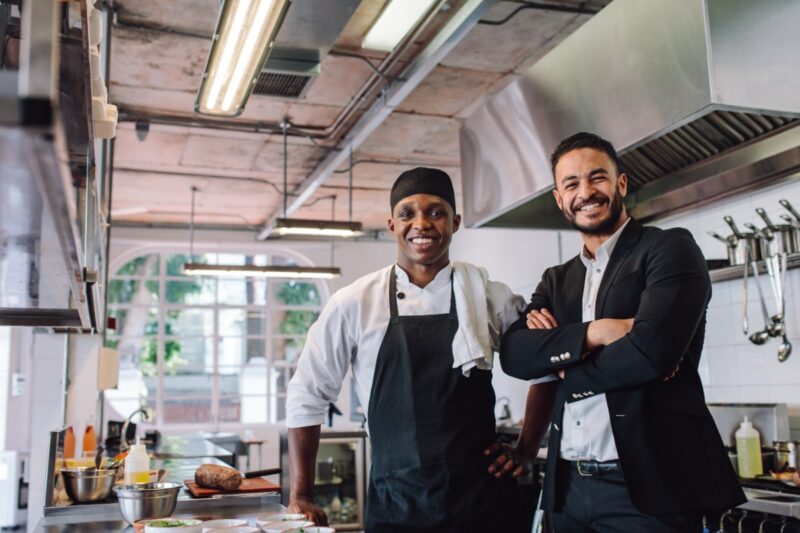
MULTIPOLYGON (((328 402, 336 401, 342 382, 352 366, 356 395, 369 416, 370 392, 378 351, 389 325, 389 273, 391 266, 368 274, 331 296, 308 331, 286 398, 286 426, 315 426, 325 420, 328 402)), ((425 287, 411 283, 396 268, 400 315, 434 315, 450 311, 448 265, 425 287)), ((500 335, 519 318, 525 300, 503 283, 487 281, 486 299, 492 348, 500 335)), ((546 381, 544 380, 536 380, 546 381)), ((403 401, 398 398, 398 401, 403 401)))

